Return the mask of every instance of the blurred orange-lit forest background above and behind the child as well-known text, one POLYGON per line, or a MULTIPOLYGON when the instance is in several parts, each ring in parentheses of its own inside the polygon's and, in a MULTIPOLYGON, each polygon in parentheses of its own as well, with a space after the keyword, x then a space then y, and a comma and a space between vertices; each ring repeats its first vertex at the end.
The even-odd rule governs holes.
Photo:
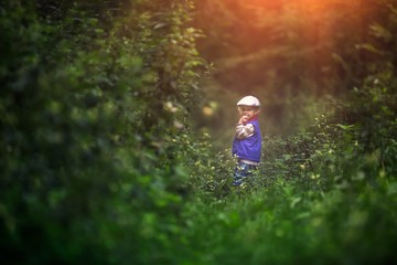
POLYGON ((225 146, 234 103, 246 94, 260 98, 266 134, 289 136, 309 126, 319 98, 343 97, 377 73, 383 60, 394 60, 390 3, 198 1, 194 24, 206 34, 198 51, 215 65, 214 78, 203 85, 203 105, 217 106, 200 126, 215 136, 218 149, 225 146))

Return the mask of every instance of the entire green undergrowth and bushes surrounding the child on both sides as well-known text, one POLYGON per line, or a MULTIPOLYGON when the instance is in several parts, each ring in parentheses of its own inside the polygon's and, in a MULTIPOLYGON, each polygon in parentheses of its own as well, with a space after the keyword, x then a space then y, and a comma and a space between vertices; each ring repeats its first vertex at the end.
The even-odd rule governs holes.
POLYGON ((260 169, 235 189, 229 150, 190 129, 207 71, 191 8, 0 8, 1 261, 396 262, 393 60, 319 99, 304 130, 264 136, 260 169))

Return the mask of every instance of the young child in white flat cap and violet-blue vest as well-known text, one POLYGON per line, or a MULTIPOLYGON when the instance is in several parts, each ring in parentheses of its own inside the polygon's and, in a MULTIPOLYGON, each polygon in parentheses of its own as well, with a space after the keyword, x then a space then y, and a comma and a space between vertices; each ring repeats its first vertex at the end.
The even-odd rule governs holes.
POLYGON ((232 153, 237 157, 234 186, 240 186, 245 178, 257 169, 261 156, 261 135, 258 123, 260 103, 254 96, 243 97, 238 103, 240 118, 236 125, 232 153))

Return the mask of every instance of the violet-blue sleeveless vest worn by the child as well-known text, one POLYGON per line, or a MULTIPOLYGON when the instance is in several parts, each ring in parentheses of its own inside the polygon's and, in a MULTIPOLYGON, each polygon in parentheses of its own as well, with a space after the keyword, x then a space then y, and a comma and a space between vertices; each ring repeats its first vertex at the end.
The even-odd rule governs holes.
POLYGON ((250 120, 247 124, 254 125, 254 135, 245 139, 237 139, 235 137, 233 139, 232 153, 237 156, 238 159, 259 162, 261 156, 260 126, 257 119, 250 120))

